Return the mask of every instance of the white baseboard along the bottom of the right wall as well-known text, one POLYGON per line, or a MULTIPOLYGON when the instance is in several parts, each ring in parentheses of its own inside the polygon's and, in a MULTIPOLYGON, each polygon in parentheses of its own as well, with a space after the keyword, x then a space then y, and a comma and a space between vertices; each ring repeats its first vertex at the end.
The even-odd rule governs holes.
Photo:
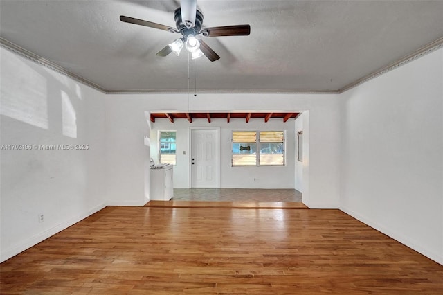
POLYGON ((404 244, 405 246, 409 247, 410 249, 413 249, 417 251, 418 253, 421 253, 422 255, 426 256, 427 258, 434 260, 435 262, 439 263, 440 265, 443 265, 443 253, 435 253, 433 251, 429 251, 428 249, 420 246, 413 240, 410 240, 408 237, 401 235, 395 231, 391 231, 386 226, 383 226, 382 224, 379 224, 378 222, 374 222, 370 218, 361 215, 359 213, 356 213, 355 211, 352 211, 350 208, 346 208, 345 206, 340 206, 340 210, 346 213, 347 215, 350 215, 354 217, 356 220, 359 220, 363 222, 364 224, 372 227, 373 229, 376 229, 377 231, 384 233, 385 235, 388 235, 390 238, 396 240, 397 242, 400 242, 401 244, 404 244))

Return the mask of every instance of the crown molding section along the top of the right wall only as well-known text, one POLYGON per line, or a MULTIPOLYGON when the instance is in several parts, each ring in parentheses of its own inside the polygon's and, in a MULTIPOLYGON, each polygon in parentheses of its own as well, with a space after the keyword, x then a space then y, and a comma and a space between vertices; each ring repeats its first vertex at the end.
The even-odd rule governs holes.
POLYGON ((384 73, 388 73, 389 71, 397 69, 399 66, 403 66, 404 64, 408 64, 409 62, 412 62, 413 60, 417 60, 417 58, 422 57, 428 53, 431 53, 433 51, 436 51, 437 49, 442 48, 443 46, 443 37, 435 40, 434 42, 431 42, 422 48, 417 49, 413 53, 410 53, 409 55, 406 55, 405 57, 402 57, 401 59, 392 62, 391 64, 388 64, 387 66, 383 66, 382 68, 378 69, 377 71, 374 71, 373 73, 370 73, 369 75, 365 75, 363 78, 360 78, 359 80, 356 80, 352 82, 351 84, 338 89, 338 93, 343 93, 347 90, 350 90, 354 87, 359 86, 360 84, 363 84, 365 82, 368 82, 369 80, 372 80, 374 78, 379 77, 379 75, 383 75, 384 73))

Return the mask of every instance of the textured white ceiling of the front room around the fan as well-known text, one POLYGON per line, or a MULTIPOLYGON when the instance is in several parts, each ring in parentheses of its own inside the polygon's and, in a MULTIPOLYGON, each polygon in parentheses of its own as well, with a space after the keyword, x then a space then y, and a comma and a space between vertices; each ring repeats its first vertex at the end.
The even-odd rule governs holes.
MULTIPOLYGON (((190 61, 208 91, 338 91, 443 37, 443 1, 197 0, 203 26, 250 24, 251 35, 205 38, 221 57, 190 61)), ((106 91, 188 89, 188 55, 158 57, 179 35, 179 1, 0 1, 0 33, 106 91)), ((197 83, 195 83, 197 78, 197 83)))

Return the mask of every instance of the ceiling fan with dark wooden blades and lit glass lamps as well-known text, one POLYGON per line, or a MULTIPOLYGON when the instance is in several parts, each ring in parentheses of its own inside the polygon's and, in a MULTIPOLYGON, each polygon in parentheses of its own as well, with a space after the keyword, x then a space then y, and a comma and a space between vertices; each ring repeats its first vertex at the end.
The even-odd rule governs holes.
POLYGON ((167 30, 170 33, 180 33, 182 37, 174 40, 174 42, 168 44, 165 48, 156 53, 156 55, 162 57, 165 57, 171 52, 179 56, 181 49, 185 47, 186 50, 191 53, 192 59, 205 55, 211 62, 214 62, 220 58, 219 55, 217 55, 217 53, 215 53, 215 51, 213 51, 213 49, 211 49, 202 39, 197 39, 197 36, 247 36, 251 33, 251 26, 248 24, 201 28, 201 24, 203 24, 203 13, 197 9, 197 0, 181 0, 180 7, 174 12, 174 19, 177 28, 120 15, 120 21, 129 24, 167 30))

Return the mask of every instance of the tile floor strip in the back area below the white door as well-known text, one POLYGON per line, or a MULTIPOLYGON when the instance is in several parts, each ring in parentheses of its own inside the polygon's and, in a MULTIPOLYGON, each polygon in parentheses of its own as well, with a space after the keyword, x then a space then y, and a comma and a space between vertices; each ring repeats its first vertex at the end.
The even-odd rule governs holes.
POLYGON ((293 189, 174 188, 172 201, 302 202, 302 193, 293 189))

